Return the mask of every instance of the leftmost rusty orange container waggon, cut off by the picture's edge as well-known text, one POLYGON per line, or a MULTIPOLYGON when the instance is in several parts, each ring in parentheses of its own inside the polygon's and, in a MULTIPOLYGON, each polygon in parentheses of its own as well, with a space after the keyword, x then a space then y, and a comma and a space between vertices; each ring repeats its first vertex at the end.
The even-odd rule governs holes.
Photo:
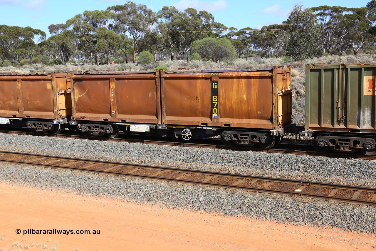
POLYGON ((0 74, 0 124, 58 133, 71 116, 69 73, 0 74))

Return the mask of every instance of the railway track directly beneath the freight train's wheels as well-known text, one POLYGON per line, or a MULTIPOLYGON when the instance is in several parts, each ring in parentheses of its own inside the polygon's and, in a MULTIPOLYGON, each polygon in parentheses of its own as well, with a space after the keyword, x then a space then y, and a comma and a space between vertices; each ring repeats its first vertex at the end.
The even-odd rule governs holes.
POLYGON ((243 146, 226 146, 223 145, 220 139, 205 139, 205 143, 203 140, 191 140, 191 141, 174 141, 165 139, 161 141, 158 139, 153 139, 152 137, 148 136, 144 139, 140 139, 139 135, 137 138, 132 138, 130 135, 129 138, 107 138, 103 137, 95 137, 95 136, 83 136, 83 135, 74 135, 70 131, 62 131, 62 133, 57 135, 52 135, 50 133, 33 133, 24 130, 0 130, 0 133, 11 133, 11 134, 20 134, 20 135, 35 135, 35 136, 48 136, 48 137, 62 137, 62 138, 74 138, 74 139, 90 139, 90 140, 102 140, 102 141, 118 141, 118 142, 136 142, 136 143, 144 143, 144 144, 163 144, 163 145, 179 145, 179 146, 186 146, 186 147, 205 147, 205 148, 218 148, 218 149, 228 149, 228 150, 236 150, 236 151, 256 151, 256 152, 268 152, 268 153, 285 153, 285 154, 299 154, 299 155, 310 155, 310 156, 325 156, 325 157, 333 157, 333 158, 352 158, 352 159, 371 159, 376 160, 376 156, 365 156, 358 153, 348 153, 344 155, 343 153, 335 153, 335 152, 317 152, 313 145, 303 145, 303 144, 286 144, 280 143, 274 145, 273 148, 270 149, 262 149, 258 147, 243 147, 243 146), (65 133, 64 133, 65 132, 65 133))

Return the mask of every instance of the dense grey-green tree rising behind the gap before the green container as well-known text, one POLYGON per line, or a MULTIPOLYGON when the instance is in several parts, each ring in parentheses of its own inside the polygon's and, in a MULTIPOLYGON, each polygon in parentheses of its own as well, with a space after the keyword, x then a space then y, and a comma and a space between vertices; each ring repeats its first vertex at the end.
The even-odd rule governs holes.
POLYGON ((287 23, 290 24, 291 34, 287 43, 287 55, 290 58, 302 61, 320 52, 316 16, 310 9, 304 9, 302 4, 296 4, 289 14, 287 23))

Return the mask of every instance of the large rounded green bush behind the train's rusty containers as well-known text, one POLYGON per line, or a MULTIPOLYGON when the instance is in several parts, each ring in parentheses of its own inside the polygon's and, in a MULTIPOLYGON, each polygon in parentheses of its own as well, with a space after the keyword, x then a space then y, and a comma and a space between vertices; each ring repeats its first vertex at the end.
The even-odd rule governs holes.
POLYGON ((235 57, 235 50, 227 38, 207 37, 192 43, 192 51, 201 55, 203 60, 213 62, 235 57))

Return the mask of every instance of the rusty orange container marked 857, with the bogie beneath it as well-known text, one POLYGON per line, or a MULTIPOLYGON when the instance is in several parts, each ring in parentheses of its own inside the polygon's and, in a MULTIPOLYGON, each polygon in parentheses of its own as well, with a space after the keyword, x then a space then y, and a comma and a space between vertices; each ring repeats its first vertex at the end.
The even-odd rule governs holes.
POLYGON ((159 71, 76 73, 71 78, 71 125, 79 124, 84 134, 114 138, 119 127, 150 133, 161 124, 159 71))

